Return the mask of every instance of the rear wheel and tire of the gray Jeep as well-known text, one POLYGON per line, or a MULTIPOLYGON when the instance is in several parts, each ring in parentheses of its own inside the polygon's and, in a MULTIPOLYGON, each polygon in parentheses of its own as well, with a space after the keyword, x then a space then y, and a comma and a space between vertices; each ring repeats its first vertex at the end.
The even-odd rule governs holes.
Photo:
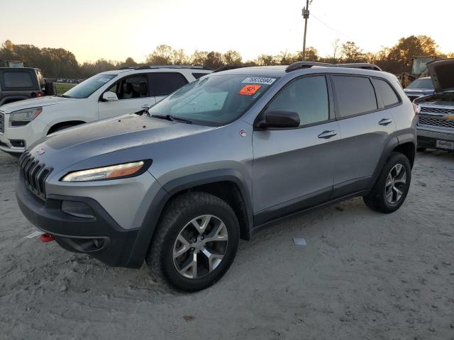
POLYGON ((372 191, 363 197, 364 203, 372 210, 384 213, 394 212, 404 203, 410 183, 411 166, 409 159, 404 154, 392 152, 372 191), (399 168, 399 166, 402 166, 402 168, 399 168), (397 172, 398 169, 401 169, 400 172, 397 172), (405 171, 404 174, 402 174, 402 170, 405 171), (396 175, 396 178, 389 181, 389 175, 391 179, 394 175, 396 175), (403 181, 404 183, 402 183, 403 181))

